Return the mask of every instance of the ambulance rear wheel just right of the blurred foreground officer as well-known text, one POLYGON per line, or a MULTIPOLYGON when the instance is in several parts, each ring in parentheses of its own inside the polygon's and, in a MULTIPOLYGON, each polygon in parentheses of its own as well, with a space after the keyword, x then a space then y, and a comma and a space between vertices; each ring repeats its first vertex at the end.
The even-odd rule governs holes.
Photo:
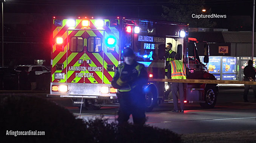
POLYGON ((154 90, 154 89, 149 89, 147 92, 146 92, 146 111, 147 112, 150 112, 153 110, 153 108, 157 105, 157 101, 158 101, 158 98, 157 98, 157 93, 156 93, 157 90, 154 90))

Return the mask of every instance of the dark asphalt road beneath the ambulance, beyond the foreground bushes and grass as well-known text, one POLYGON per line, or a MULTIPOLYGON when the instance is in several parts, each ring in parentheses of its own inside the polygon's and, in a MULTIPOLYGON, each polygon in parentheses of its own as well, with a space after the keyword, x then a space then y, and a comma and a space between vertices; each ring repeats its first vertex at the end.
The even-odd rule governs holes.
MULTIPOLYGON (((20 93, 46 98, 46 93, 20 93)), ((243 102, 243 89, 220 89, 217 104, 213 109, 202 109, 199 104, 185 104, 184 113, 173 113, 173 104, 162 104, 147 112, 147 124, 159 128, 167 128, 179 134, 192 134, 202 132, 221 132, 256 129, 256 101, 252 90, 248 100, 243 102)), ((104 115, 109 122, 115 122, 117 107, 102 107, 100 110, 82 110, 73 107, 68 98, 46 98, 64 106, 75 116, 82 119, 93 119, 104 115)), ((130 122, 132 119, 130 117, 130 122)))

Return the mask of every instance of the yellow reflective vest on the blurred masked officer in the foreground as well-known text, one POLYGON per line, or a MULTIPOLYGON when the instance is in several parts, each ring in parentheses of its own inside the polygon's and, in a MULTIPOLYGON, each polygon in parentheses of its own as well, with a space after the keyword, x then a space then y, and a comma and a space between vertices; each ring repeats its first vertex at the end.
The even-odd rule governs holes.
MULTIPOLYGON (((117 79, 116 83, 117 83, 119 86, 122 86, 122 85, 125 83, 125 81, 122 81, 121 78, 120 78, 124 67, 125 67, 124 64, 120 64, 120 65, 117 66, 118 72, 119 72, 119 78, 117 79)), ((138 65, 135 67, 135 69, 138 71, 137 77, 139 77, 140 71, 141 71, 142 68, 143 68, 143 65, 142 65, 142 64, 138 64, 138 65)), ((133 89, 134 87, 136 87, 136 85, 133 86, 133 87, 131 87, 129 84, 126 84, 126 86, 122 87, 122 89, 117 89, 117 90, 118 90, 119 92, 129 92, 129 91, 131 91, 131 89, 133 89)))

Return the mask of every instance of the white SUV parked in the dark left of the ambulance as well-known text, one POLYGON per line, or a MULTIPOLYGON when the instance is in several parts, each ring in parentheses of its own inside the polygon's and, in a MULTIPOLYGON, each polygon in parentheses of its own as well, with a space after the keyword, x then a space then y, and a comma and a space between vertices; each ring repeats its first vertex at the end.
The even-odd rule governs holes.
POLYGON ((26 72, 32 71, 32 69, 35 69, 35 74, 40 75, 46 72, 49 72, 50 70, 47 69, 45 66, 38 66, 38 65, 19 65, 15 69, 17 72, 21 72, 23 69, 25 69, 26 72))

